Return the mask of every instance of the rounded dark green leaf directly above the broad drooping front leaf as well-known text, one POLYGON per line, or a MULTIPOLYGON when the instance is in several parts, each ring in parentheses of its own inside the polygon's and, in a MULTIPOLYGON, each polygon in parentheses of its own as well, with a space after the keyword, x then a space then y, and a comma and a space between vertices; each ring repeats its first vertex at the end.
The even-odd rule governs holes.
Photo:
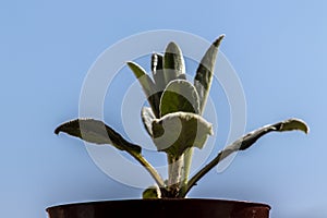
POLYGON ((187 81, 170 82, 160 99, 160 117, 168 113, 183 111, 199 113, 199 100, 195 87, 187 81))

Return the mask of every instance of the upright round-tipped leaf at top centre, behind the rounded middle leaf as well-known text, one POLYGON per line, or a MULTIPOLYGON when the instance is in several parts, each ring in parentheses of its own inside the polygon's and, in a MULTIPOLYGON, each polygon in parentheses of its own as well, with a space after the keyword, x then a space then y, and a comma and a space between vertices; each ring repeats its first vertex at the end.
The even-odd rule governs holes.
POLYGON ((168 44, 164 55, 165 84, 177 78, 186 80, 185 63, 181 49, 174 43, 168 44))

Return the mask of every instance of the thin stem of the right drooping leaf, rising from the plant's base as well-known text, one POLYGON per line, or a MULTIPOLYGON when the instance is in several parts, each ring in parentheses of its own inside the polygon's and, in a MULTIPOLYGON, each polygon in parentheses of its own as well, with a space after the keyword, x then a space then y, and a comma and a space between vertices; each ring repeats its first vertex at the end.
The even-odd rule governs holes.
POLYGON ((186 189, 183 193, 181 193, 181 197, 185 197, 190 192, 192 186, 196 184, 198 180, 201 180, 208 171, 210 171, 215 166, 217 166, 221 160, 231 155, 234 149, 225 149, 221 150, 208 165, 206 165, 201 171, 198 171, 187 183, 186 189))

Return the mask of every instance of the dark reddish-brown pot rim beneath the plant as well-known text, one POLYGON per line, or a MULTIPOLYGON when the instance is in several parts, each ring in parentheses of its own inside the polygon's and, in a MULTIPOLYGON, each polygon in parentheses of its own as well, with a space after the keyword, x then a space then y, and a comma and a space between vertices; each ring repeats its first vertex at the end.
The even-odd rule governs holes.
POLYGON ((270 206, 261 203, 205 199, 121 199, 48 207, 49 218, 269 218, 270 206))

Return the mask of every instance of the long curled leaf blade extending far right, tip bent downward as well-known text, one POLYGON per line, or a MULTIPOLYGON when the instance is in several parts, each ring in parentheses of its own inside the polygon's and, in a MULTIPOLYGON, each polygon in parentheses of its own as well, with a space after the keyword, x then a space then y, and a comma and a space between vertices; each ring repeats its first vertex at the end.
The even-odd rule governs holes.
POLYGON ((243 137, 241 137, 240 140, 232 143, 231 145, 229 145, 228 147, 226 147, 225 150, 245 150, 249 147, 251 147, 258 138, 261 138, 269 132, 286 132, 294 130, 302 131, 306 134, 308 133, 308 126, 304 121, 299 119, 289 119, 275 124, 265 125, 258 130, 252 131, 243 137))

